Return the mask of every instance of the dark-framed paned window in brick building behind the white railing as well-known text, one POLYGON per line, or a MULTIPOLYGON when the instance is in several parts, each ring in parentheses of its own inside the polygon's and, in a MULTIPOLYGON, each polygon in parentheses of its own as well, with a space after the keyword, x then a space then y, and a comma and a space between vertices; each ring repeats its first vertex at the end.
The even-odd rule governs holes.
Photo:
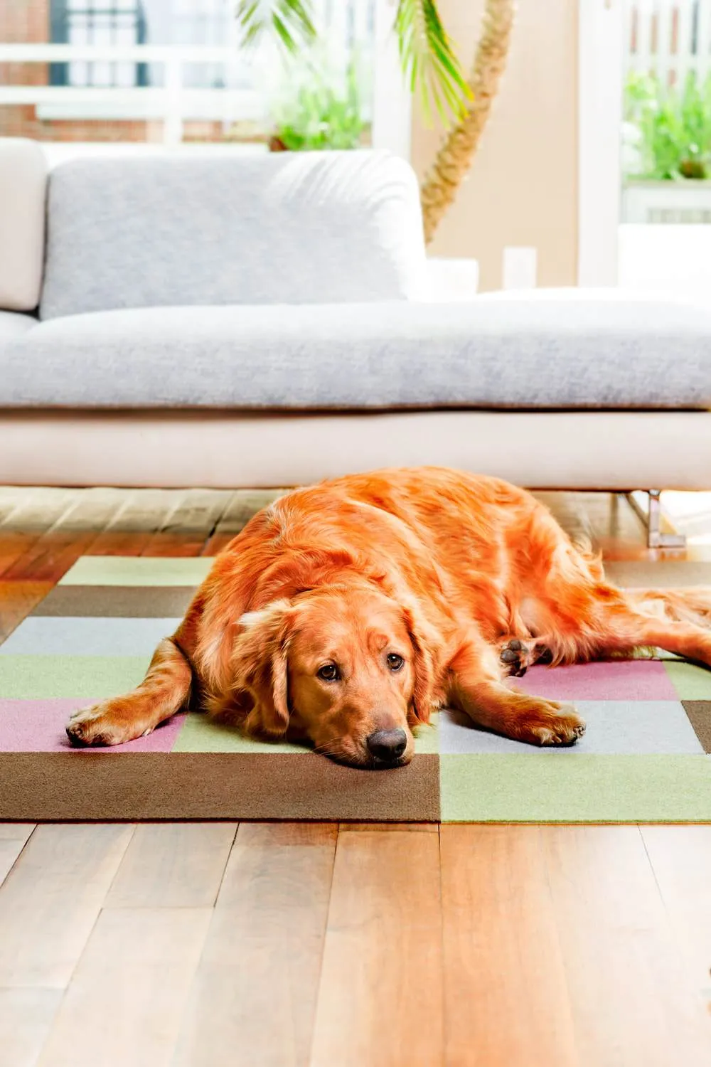
MULTIPOLYGON (((51 41, 68 45, 142 45, 142 0, 51 0, 51 41)), ((72 60, 50 65, 52 85, 131 87, 148 84, 145 63, 72 60)))

